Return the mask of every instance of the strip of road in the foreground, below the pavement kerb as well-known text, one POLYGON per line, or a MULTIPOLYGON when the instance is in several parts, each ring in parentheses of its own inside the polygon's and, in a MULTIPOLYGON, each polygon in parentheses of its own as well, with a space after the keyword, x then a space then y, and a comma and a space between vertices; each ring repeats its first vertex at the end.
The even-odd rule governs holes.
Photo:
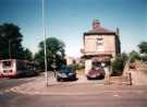
POLYGON ((0 107, 147 107, 147 94, 100 93, 98 95, 0 95, 0 107))

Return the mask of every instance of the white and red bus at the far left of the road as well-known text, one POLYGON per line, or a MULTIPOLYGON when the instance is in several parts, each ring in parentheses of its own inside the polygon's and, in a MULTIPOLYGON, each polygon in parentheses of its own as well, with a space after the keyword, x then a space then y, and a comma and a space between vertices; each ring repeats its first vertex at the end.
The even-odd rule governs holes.
POLYGON ((7 59, 0 60, 0 78, 16 78, 37 75, 36 64, 33 61, 7 59))

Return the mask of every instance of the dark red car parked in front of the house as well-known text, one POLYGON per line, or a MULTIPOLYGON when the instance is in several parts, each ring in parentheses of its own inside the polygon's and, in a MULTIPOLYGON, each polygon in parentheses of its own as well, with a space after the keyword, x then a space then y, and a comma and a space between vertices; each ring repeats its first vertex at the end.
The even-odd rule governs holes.
POLYGON ((105 75, 106 75, 106 72, 102 68, 91 69, 86 74, 88 80, 103 79, 105 75))

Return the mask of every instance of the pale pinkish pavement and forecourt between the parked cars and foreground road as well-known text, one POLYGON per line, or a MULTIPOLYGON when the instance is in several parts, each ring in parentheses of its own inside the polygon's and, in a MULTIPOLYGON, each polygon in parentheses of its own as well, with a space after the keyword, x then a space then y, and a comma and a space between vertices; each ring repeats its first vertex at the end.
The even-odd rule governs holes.
POLYGON ((99 95, 101 93, 146 93, 147 86, 130 86, 106 84, 105 80, 87 81, 84 75, 73 82, 57 82, 53 76, 48 78, 46 85, 45 75, 37 76, 30 82, 4 90, 28 95, 99 95))

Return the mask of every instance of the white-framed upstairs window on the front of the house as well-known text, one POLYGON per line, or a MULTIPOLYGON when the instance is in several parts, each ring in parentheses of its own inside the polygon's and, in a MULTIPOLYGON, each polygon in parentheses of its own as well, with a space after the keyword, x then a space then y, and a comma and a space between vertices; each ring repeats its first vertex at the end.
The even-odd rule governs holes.
POLYGON ((96 43, 96 47, 97 47, 97 51, 103 51, 105 50, 105 46, 103 46, 103 36, 100 35, 97 37, 97 43, 96 43))

